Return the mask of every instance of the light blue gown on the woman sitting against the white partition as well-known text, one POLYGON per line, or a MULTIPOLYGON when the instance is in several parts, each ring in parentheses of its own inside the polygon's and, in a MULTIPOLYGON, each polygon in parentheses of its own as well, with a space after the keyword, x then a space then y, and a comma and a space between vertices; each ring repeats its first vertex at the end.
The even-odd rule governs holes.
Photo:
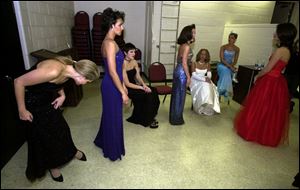
MULTIPOLYGON (((228 64, 232 64, 235 56, 235 51, 224 50, 224 59, 228 64)), ((217 71, 219 75, 219 80, 217 83, 217 88, 220 96, 228 98, 232 96, 232 75, 233 72, 231 69, 226 67, 223 63, 217 65, 217 71)))

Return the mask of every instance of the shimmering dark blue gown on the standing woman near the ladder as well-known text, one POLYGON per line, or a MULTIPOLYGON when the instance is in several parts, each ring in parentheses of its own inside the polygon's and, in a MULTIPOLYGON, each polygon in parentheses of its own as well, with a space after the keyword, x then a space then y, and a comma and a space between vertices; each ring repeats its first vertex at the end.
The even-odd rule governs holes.
POLYGON ((169 111, 171 125, 182 125, 183 109, 185 103, 187 77, 183 70, 182 60, 177 59, 177 65, 173 73, 172 94, 169 111))

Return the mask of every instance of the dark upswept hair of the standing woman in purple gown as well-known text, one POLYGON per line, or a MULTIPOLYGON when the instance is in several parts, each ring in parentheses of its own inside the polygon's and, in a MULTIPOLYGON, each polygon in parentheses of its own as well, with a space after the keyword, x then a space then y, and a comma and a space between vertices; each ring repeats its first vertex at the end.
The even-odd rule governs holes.
POLYGON ((107 33, 112 25, 116 24, 118 19, 122 19, 124 21, 124 18, 124 12, 113 10, 112 8, 108 7, 102 13, 101 28, 105 33, 107 33))

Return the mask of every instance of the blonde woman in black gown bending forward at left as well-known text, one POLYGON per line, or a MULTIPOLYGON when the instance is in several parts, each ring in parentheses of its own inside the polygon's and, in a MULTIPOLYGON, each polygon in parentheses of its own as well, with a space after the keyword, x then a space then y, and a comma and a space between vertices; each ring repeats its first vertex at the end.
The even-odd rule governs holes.
POLYGON ((70 128, 59 109, 65 100, 63 83, 69 78, 77 85, 91 82, 99 78, 98 67, 88 60, 73 63, 69 58, 57 57, 34 65, 15 79, 19 116, 26 121, 26 177, 30 181, 50 170, 52 178, 62 182, 58 167, 74 157, 86 160, 84 153, 74 145, 70 128))

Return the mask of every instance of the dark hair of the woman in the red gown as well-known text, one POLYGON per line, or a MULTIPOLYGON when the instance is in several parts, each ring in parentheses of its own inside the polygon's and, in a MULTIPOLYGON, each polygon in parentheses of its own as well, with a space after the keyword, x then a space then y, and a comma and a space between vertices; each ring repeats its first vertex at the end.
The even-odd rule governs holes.
POLYGON ((278 47, 287 47, 293 52, 294 40, 297 35, 297 29, 292 23, 281 23, 277 25, 276 34, 280 41, 278 47))

